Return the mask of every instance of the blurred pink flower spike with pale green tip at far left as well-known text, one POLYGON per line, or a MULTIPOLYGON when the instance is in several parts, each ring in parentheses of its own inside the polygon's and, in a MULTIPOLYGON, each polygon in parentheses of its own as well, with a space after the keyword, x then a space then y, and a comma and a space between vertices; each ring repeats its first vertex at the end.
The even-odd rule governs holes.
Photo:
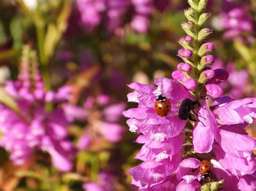
POLYGON ((5 90, 15 98, 18 108, 15 112, 0 105, 1 146, 11 153, 10 159, 21 165, 39 150, 51 155, 52 164, 57 169, 70 171, 76 149, 67 139, 69 122, 62 109, 47 111, 44 107, 45 103, 67 100, 70 87, 59 88, 57 92, 45 91, 36 53, 24 46, 18 80, 6 82, 5 90))

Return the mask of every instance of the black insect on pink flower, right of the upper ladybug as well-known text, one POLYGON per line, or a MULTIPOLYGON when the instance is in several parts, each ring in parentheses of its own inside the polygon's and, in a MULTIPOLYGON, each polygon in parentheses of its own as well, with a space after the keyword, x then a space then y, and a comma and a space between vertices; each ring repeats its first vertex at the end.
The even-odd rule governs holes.
MULTIPOLYGON (((193 119, 190 113, 192 112, 194 115, 199 116, 196 112, 194 112, 194 105, 196 105, 197 103, 198 105, 200 105, 198 101, 193 102, 189 98, 186 98, 185 100, 183 100, 179 107, 179 118, 182 120, 187 120, 188 118, 190 119, 190 121, 193 121, 193 122, 201 122, 199 119, 193 119)), ((202 117, 202 116, 199 116, 199 117, 202 117)), ((204 125, 203 122, 201 123, 204 125)))

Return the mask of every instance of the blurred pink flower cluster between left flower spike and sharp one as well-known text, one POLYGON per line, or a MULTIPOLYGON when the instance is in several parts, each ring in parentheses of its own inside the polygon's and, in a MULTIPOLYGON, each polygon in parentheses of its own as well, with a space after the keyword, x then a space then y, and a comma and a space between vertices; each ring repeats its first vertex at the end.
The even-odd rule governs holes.
POLYGON ((84 150, 98 139, 104 138, 108 142, 116 143, 123 138, 124 128, 118 124, 125 103, 110 104, 111 98, 106 94, 97 97, 88 96, 79 107, 74 104, 63 104, 66 118, 70 122, 86 122, 85 132, 80 136, 77 147, 84 150))

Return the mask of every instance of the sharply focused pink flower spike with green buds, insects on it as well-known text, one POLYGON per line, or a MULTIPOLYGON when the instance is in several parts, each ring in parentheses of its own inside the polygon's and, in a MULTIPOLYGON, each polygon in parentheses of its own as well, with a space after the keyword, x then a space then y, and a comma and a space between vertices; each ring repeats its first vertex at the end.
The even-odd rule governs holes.
POLYGON ((255 190, 256 139, 244 128, 256 119, 256 98, 223 96, 219 84, 227 80, 228 72, 208 66, 213 62, 214 45, 203 42, 212 32, 201 28, 210 16, 204 13, 207 1, 188 3, 191 7, 185 16, 189 21, 181 24, 187 36, 179 40, 183 49, 178 51, 184 62, 172 73, 174 80, 156 79, 157 87, 128 85, 134 90, 127 95, 128 101, 137 102, 138 108, 123 114, 130 118, 126 122, 130 131, 142 133, 136 142, 144 144, 135 156, 142 164, 130 169, 132 183, 139 190, 217 190, 221 186, 225 190, 255 190), (171 103, 165 117, 154 110, 159 95, 171 103), (210 97, 217 100, 210 103, 210 97), (180 102, 185 99, 194 105, 185 105, 191 113, 180 112, 184 109, 180 102), (203 160, 213 166, 207 179, 199 169, 203 160))

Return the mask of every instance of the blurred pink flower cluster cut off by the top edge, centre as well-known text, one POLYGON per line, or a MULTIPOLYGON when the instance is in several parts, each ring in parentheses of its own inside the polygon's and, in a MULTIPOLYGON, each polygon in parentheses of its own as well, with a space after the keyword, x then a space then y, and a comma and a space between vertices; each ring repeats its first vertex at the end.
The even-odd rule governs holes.
POLYGON ((134 31, 145 33, 149 29, 153 8, 163 10, 167 5, 168 1, 159 3, 153 0, 77 0, 82 23, 87 29, 94 30, 100 23, 106 23, 110 32, 123 26, 124 20, 131 20, 130 25, 134 31), (131 18, 126 18, 127 12, 133 12, 131 18))

